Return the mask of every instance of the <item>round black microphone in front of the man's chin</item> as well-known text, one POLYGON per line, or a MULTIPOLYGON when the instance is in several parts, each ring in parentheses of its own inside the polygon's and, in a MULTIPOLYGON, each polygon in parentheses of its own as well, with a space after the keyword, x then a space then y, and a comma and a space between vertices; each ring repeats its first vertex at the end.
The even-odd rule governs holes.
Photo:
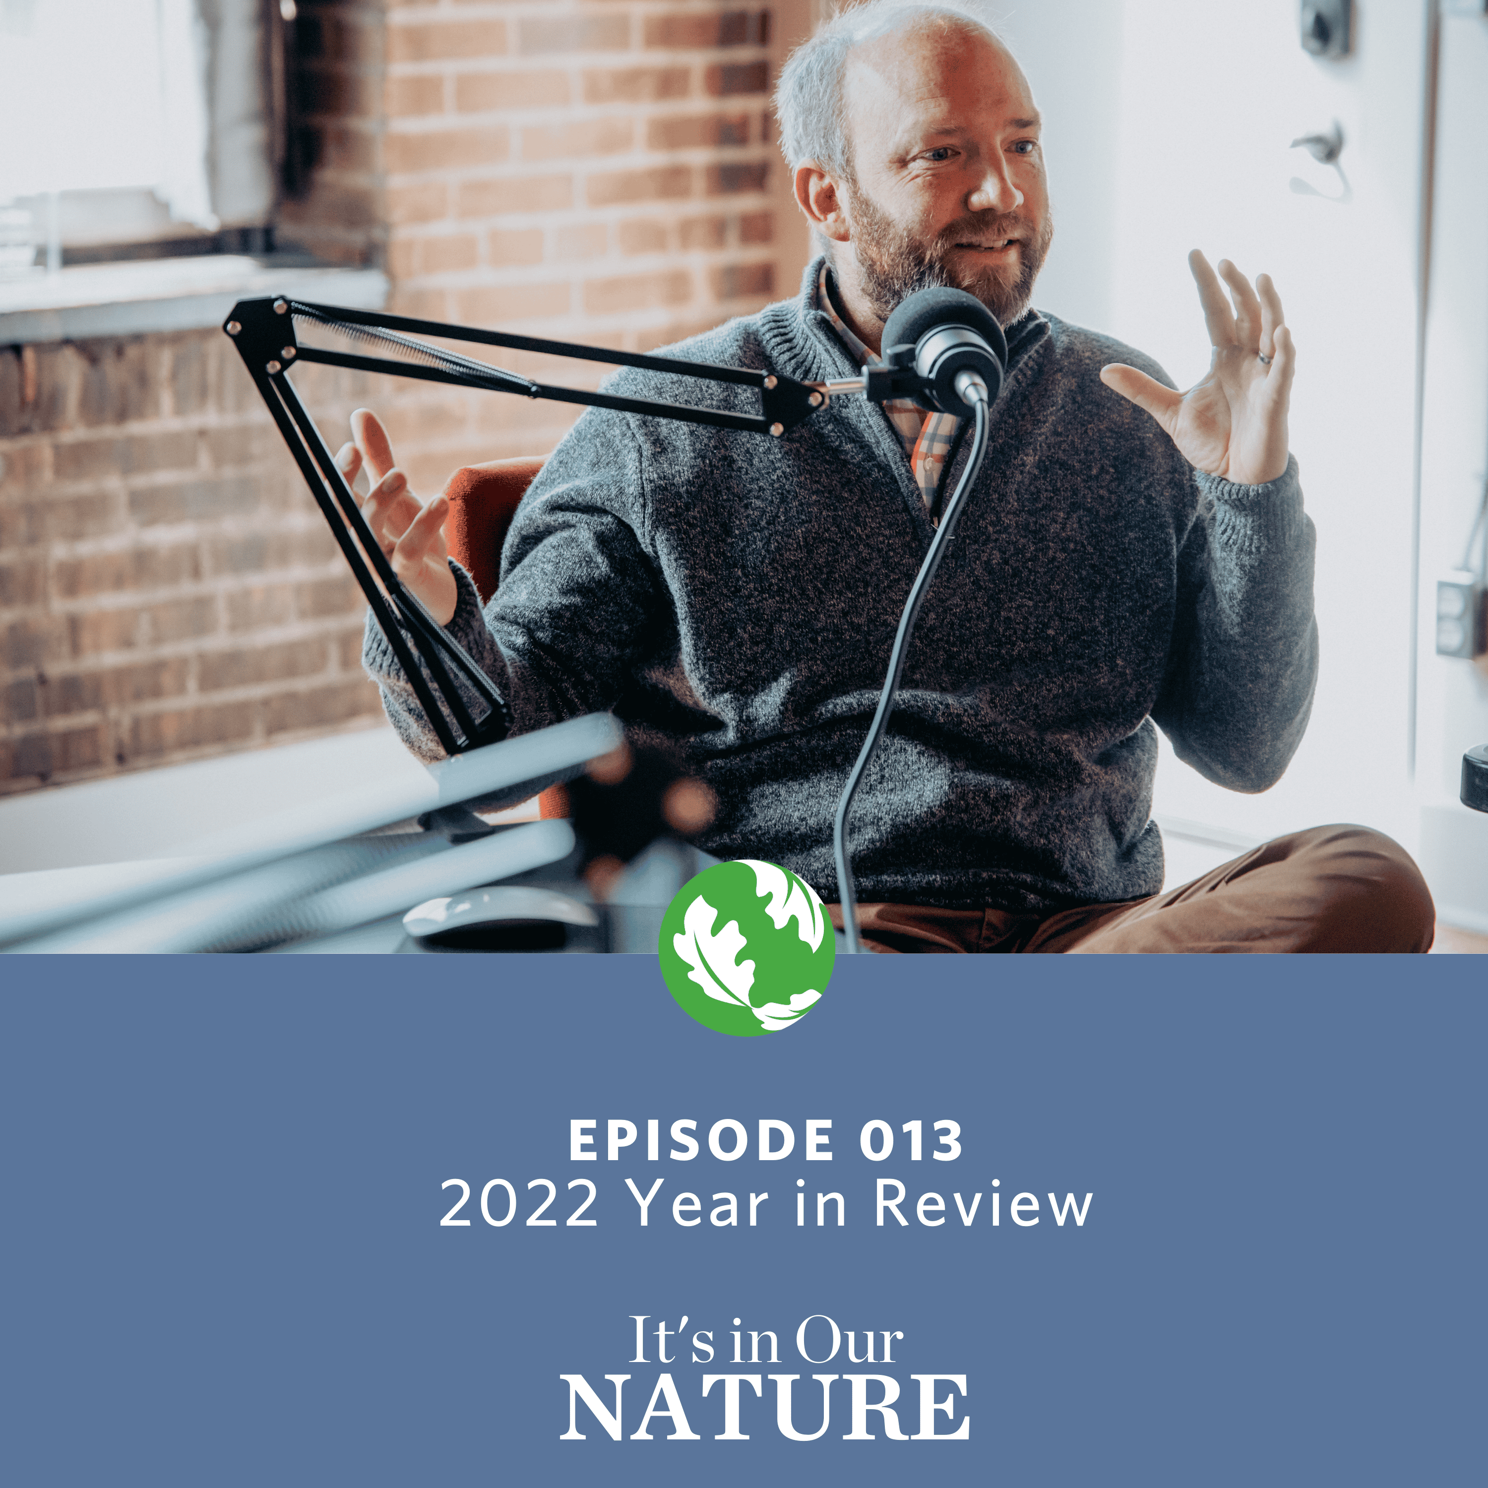
POLYGON ((915 290, 888 317, 882 345, 887 366, 865 373, 863 393, 875 403, 912 397, 930 412, 970 418, 975 402, 992 403, 1003 388, 1007 336, 966 290, 915 290))

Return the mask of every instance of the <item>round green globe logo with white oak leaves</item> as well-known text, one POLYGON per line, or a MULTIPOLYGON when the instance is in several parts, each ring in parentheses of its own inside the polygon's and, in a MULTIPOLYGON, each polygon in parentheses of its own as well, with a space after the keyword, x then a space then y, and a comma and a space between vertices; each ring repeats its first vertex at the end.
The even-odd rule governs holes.
POLYGON ((658 949, 683 1012, 747 1039, 789 1028, 821 1000, 836 936, 805 879, 741 859, 682 887, 662 918, 658 949))

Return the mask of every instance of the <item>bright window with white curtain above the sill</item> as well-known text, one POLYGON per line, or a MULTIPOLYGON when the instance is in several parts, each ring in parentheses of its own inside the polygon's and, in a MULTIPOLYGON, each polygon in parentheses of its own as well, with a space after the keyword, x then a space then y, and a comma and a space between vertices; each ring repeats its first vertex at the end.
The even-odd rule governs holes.
POLYGON ((0 272, 271 247, 286 18, 0 0, 0 272))

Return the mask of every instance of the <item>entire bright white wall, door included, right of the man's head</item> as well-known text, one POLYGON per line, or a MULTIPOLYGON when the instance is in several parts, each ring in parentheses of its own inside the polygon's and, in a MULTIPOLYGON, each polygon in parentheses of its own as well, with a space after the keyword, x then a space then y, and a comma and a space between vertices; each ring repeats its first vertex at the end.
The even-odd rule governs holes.
POLYGON ((1158 814, 1256 841, 1364 821, 1417 851, 1446 918, 1488 930, 1488 815, 1457 802, 1463 750, 1488 740, 1488 659, 1437 658, 1431 613, 1488 475, 1488 22, 1440 22, 1417 585, 1430 0, 1357 0, 1344 61, 1302 51, 1295 0, 984 10, 1048 121, 1058 226, 1036 302, 1141 347, 1187 385, 1208 363, 1184 263, 1202 247, 1275 278, 1299 347, 1292 445, 1318 528, 1323 647, 1312 722, 1259 798, 1165 750, 1158 814), (1326 199, 1342 182, 1290 147, 1335 119, 1347 201, 1326 199))

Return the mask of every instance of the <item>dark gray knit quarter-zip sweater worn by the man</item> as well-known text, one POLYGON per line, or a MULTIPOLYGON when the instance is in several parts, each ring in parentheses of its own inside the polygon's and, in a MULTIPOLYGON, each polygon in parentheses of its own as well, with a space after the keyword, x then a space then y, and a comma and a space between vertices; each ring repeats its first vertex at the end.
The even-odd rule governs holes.
MULTIPOLYGON (((815 310, 817 268, 799 299, 674 354, 854 375, 815 310)), ((1156 893, 1156 728, 1254 792, 1306 726, 1314 533, 1296 463, 1256 487, 1196 473, 1098 378, 1126 362, 1168 382, 1156 363, 1052 315, 1013 330, 987 460, 854 805, 863 902, 1043 914, 1156 893)), ((653 372, 610 387, 757 412, 748 388, 653 372)), ((903 446, 863 399, 783 439, 589 409, 522 501, 484 615, 457 570, 449 629, 516 732, 612 708, 717 792, 707 851, 781 863, 833 900, 832 812, 931 536, 903 446)), ((434 757, 371 626, 366 665, 434 757)))

